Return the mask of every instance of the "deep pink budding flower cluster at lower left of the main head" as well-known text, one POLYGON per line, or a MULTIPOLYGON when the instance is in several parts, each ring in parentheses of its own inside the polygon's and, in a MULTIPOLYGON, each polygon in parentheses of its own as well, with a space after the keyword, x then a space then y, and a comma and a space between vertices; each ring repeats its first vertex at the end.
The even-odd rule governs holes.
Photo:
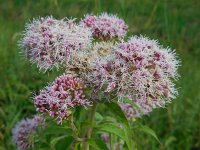
POLYGON ((35 107, 42 114, 47 112, 61 124, 70 115, 70 108, 89 105, 84 99, 83 89, 82 80, 72 75, 61 75, 35 96, 35 107))

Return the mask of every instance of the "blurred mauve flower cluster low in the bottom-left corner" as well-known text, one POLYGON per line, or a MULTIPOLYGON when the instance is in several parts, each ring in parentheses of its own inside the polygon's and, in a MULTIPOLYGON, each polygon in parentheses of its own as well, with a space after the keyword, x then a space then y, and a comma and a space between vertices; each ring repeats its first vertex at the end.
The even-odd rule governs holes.
POLYGON ((12 129, 13 142, 18 149, 26 150, 33 147, 34 134, 43 119, 39 116, 23 119, 12 129))

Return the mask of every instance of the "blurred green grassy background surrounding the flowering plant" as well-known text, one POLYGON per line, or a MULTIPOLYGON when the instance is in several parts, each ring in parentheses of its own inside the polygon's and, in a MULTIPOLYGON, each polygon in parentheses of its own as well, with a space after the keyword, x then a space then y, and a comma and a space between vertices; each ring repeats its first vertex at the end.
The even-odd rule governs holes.
POLYGON ((33 17, 83 17, 106 11, 129 25, 129 35, 146 35, 176 49, 182 66, 179 96, 141 122, 152 128, 161 144, 136 135, 141 149, 200 149, 200 1, 199 0, 0 0, 0 150, 12 150, 11 128, 35 113, 33 91, 58 72, 40 73, 20 55, 17 41, 33 17))

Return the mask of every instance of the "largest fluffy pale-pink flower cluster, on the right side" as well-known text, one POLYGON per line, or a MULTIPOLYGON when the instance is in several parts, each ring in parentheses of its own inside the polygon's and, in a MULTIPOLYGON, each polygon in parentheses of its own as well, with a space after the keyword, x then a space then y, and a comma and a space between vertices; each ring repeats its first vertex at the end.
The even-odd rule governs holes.
POLYGON ((96 62, 93 80, 108 85, 107 92, 116 91, 119 100, 133 100, 139 107, 135 112, 149 113, 177 95, 172 79, 178 76, 179 61, 172 50, 146 37, 134 36, 119 43, 110 57, 96 62))

